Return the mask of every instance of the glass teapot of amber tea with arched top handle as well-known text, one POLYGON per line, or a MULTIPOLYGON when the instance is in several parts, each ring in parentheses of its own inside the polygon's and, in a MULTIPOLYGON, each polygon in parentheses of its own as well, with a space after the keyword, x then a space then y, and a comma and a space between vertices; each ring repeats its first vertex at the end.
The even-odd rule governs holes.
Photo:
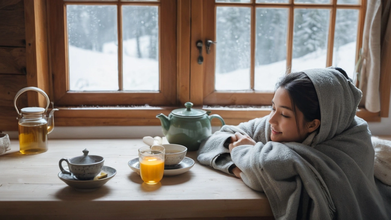
POLYGON ((42 153, 48 150, 48 133, 52 132, 54 128, 53 114, 57 111, 57 108, 53 108, 50 111, 48 119, 46 119, 46 112, 49 107, 48 95, 37 87, 26 87, 19 90, 14 98, 14 106, 16 112, 18 112, 18 124, 19 124, 19 146, 20 153, 33 154, 42 153), (39 107, 27 107, 22 108, 19 112, 16 107, 16 99, 23 92, 33 90, 39 92, 46 98, 46 108, 39 107))

